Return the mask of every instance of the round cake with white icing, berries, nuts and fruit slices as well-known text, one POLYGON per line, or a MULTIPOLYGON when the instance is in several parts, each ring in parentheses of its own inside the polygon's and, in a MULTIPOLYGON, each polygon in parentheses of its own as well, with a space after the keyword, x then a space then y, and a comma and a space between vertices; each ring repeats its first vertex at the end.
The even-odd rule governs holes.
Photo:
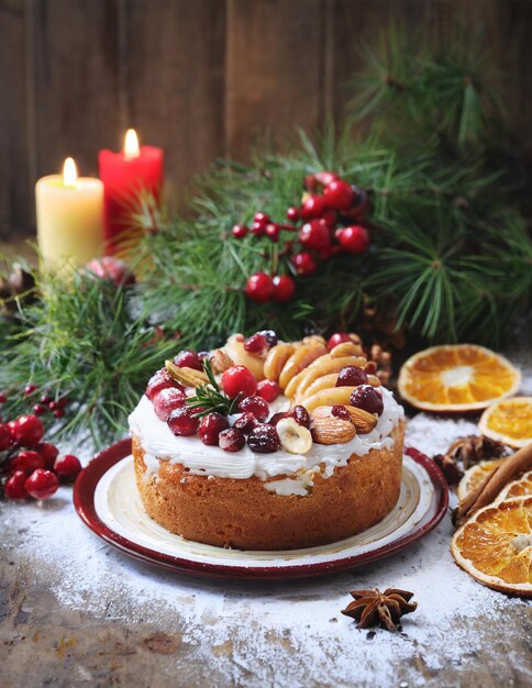
POLYGON ((295 550, 367 530, 395 507, 403 411, 352 336, 234 335, 179 353, 130 415, 152 519, 196 542, 295 550))

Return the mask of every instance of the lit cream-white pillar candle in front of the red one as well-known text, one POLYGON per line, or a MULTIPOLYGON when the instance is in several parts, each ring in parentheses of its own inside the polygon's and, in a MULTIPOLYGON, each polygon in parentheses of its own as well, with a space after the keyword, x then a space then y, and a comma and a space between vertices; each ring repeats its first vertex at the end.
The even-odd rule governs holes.
POLYGON ((73 158, 63 175, 43 177, 35 185, 37 241, 49 269, 82 267, 102 254, 103 184, 78 177, 73 158))

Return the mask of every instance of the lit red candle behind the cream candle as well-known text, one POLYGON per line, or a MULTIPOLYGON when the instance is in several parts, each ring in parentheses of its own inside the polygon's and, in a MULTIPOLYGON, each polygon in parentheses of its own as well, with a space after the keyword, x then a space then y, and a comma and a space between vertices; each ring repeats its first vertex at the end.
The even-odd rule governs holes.
POLYGON ((98 164, 103 181, 103 213, 107 253, 115 253, 121 241, 138 234, 132 214, 153 215, 160 202, 163 148, 138 147, 135 130, 125 134, 120 153, 100 151, 98 164))

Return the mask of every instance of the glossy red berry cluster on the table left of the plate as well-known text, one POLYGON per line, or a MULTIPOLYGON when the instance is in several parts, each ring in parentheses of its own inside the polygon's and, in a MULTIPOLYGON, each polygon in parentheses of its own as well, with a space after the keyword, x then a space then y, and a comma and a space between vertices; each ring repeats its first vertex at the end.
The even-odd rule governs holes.
POLYGON ((48 499, 59 480, 70 481, 81 470, 73 454, 43 442, 44 425, 36 415, 21 415, 0 424, 3 493, 8 499, 48 499))

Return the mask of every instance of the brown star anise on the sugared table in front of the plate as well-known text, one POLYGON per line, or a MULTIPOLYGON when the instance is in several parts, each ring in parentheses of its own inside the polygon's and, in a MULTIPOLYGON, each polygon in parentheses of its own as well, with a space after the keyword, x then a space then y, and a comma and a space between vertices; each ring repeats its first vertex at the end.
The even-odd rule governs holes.
POLYGON ((402 614, 415 611, 418 602, 411 602, 413 592, 387 588, 380 592, 378 588, 372 590, 352 590, 354 602, 342 609, 342 613, 358 621, 358 629, 369 629, 380 625, 388 631, 397 631, 402 614))

